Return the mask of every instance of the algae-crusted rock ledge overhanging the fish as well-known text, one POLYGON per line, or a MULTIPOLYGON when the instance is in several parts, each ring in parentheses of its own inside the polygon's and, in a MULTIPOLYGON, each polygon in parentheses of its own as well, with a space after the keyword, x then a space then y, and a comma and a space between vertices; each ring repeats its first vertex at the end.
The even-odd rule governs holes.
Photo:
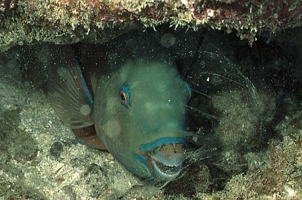
POLYGON ((253 42, 257 33, 274 33, 301 24, 300 0, 101 1, 1 0, 0 51, 37 42, 102 43, 136 28, 201 26, 233 30, 253 42))

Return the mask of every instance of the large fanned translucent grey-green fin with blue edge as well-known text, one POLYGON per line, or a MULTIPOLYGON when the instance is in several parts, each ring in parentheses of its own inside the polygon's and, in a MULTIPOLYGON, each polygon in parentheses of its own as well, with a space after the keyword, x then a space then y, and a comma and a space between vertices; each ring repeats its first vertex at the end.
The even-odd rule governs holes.
POLYGON ((93 99, 73 49, 56 49, 50 63, 47 85, 54 110, 72 129, 91 126, 93 99))

